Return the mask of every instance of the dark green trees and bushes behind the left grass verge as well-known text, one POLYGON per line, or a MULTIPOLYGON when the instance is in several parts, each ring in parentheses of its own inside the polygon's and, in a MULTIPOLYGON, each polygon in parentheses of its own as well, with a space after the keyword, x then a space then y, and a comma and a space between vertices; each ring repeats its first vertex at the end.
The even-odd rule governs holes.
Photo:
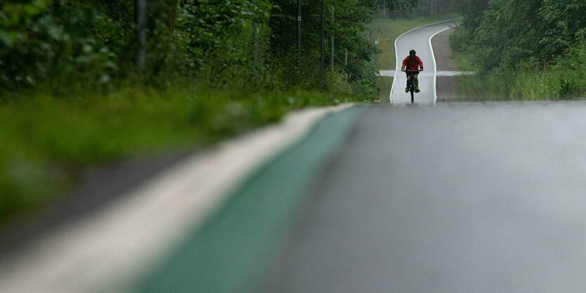
MULTIPOLYGON (((5 93, 39 86, 55 90, 65 84, 108 88, 138 76, 156 84, 187 78, 231 88, 319 88, 319 1, 302 0, 300 68, 295 0, 147 1, 144 73, 134 65, 133 2, 2 1, 1 88, 5 93)), ((415 7, 417 0, 326 2, 326 48, 331 36, 336 48, 326 89, 372 93, 375 68, 368 61, 375 46, 364 23, 382 6, 398 11, 415 7)))

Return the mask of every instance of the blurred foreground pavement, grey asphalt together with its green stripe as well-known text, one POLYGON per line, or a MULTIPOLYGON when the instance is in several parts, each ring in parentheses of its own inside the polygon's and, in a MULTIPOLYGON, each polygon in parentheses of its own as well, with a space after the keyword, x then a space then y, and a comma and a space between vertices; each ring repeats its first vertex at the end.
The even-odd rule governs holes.
POLYGON ((331 114, 125 288, 580 291, 585 113, 576 101, 331 114))

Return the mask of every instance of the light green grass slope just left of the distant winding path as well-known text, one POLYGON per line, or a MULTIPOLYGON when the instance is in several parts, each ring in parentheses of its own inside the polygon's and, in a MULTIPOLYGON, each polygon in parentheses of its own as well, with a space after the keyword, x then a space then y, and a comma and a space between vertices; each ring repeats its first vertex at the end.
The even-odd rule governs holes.
MULTIPOLYGON (((434 17, 412 18, 412 19, 385 19, 384 25, 382 18, 379 17, 368 24, 368 27, 373 32, 373 40, 379 41, 379 48, 381 50, 375 62, 378 62, 379 70, 395 69, 395 52, 394 41, 404 32, 407 32, 415 27, 422 25, 429 25, 434 22, 441 22, 443 20, 451 20, 458 18, 458 15, 437 15, 434 17)), ((391 92, 393 78, 389 76, 380 76, 380 100, 388 101, 391 92)))

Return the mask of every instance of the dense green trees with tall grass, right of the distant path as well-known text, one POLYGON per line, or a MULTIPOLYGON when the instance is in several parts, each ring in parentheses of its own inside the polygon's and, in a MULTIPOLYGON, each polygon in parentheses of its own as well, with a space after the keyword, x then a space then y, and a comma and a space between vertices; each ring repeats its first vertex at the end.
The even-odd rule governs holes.
POLYGON ((585 1, 466 0, 458 7, 463 19, 451 36, 453 50, 469 55, 481 78, 502 83, 503 93, 586 92, 585 1), (510 77, 524 84, 507 82, 510 77))

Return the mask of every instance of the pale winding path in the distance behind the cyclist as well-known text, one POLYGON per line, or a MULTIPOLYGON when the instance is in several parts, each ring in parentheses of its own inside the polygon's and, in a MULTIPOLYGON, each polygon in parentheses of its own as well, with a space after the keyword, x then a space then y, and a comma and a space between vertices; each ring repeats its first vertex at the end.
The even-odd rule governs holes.
POLYGON ((420 104, 435 104, 435 81, 436 81, 436 64, 434 61, 431 38, 435 34, 442 32, 458 24, 458 20, 448 20, 424 27, 418 27, 405 34, 402 34, 395 41, 395 52, 397 55, 397 64, 391 90, 391 102, 393 104, 411 103, 411 94, 405 93, 406 75, 401 72, 401 65, 404 58, 409 55, 409 50, 413 49, 423 62, 423 69, 419 74, 420 93, 415 94, 415 102, 420 104))

